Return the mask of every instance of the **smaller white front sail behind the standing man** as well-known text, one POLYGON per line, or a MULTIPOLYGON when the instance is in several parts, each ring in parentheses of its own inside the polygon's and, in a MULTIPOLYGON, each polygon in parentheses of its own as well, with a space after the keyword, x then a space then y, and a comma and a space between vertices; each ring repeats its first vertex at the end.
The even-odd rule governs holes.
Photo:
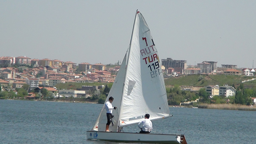
MULTIPOLYGON (((112 102, 112 105, 113 105, 113 107, 114 106, 117 107, 117 109, 113 110, 113 112, 112 112, 112 114, 114 115, 114 117, 112 118, 114 125, 112 126, 112 123, 111 123, 111 125, 109 126, 109 131, 117 130, 118 113, 119 113, 120 105, 121 105, 120 103, 121 103, 121 95, 122 95, 122 90, 123 90, 123 85, 124 85, 125 73, 126 73, 126 55, 124 56, 124 60, 121 64, 121 67, 120 67, 118 73, 117 73, 115 82, 113 83, 113 85, 111 87, 108 97, 106 98, 106 101, 108 101, 109 97, 113 97, 114 101, 112 102)), ((106 123, 107 123, 106 109, 105 109, 105 105, 103 105, 100 115, 99 115, 98 119, 96 120, 96 123, 93 127, 93 130, 94 131, 105 131, 106 123)))

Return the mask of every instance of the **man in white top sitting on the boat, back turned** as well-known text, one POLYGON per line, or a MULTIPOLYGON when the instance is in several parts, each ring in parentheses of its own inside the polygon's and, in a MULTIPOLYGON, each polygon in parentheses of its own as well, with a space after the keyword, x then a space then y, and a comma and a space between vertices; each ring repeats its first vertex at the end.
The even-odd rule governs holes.
POLYGON ((141 129, 139 133, 150 133, 152 128, 152 121, 149 120, 150 115, 145 114, 145 119, 139 122, 138 127, 141 129))

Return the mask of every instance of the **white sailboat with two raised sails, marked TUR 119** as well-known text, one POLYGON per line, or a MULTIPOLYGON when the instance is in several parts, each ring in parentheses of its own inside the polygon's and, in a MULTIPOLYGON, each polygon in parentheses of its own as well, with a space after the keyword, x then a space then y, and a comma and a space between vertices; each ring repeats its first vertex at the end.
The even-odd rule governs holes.
POLYGON ((137 125, 150 114, 150 120, 171 117, 158 52, 143 15, 137 11, 129 48, 115 82, 106 98, 113 97, 113 124, 105 132, 104 106, 87 139, 110 142, 187 144, 183 134, 128 133, 124 127, 137 125))

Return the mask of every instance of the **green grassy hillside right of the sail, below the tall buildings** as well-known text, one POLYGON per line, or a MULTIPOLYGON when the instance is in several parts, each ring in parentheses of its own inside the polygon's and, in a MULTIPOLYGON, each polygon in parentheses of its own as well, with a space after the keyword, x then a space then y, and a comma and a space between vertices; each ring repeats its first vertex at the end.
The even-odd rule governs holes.
MULTIPOLYGON (((249 80, 254 77, 244 75, 182 75, 178 77, 170 77, 165 79, 165 85, 179 85, 179 86, 208 86, 224 84, 239 85, 243 80, 249 80)), ((243 83, 245 86, 256 86, 256 80, 243 83)))

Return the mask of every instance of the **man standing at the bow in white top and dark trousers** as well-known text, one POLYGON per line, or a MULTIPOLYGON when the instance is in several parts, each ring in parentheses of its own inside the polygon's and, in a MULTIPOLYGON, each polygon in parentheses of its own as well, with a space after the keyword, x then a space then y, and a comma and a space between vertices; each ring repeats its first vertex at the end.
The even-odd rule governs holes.
POLYGON ((108 101, 105 103, 105 109, 107 111, 106 116, 107 116, 107 119, 108 119, 108 122, 106 123, 106 130, 105 131, 109 131, 108 128, 109 128, 110 123, 112 122, 111 119, 114 117, 114 116, 112 116, 112 110, 117 108, 117 107, 112 106, 111 103, 113 102, 113 100, 114 100, 113 97, 109 97, 108 101))

